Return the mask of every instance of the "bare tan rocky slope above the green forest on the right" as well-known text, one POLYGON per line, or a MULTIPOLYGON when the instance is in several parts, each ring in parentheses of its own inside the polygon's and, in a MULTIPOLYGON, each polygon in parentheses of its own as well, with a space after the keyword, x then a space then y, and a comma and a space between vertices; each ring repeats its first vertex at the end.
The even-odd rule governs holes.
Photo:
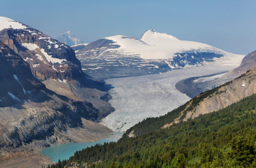
MULTIPOLYGON (((179 123, 181 120, 186 121, 201 114, 226 108, 253 94, 256 94, 256 68, 213 90, 196 96, 174 122, 179 123)), ((170 127, 170 125, 172 123, 164 125, 163 128, 170 127)))

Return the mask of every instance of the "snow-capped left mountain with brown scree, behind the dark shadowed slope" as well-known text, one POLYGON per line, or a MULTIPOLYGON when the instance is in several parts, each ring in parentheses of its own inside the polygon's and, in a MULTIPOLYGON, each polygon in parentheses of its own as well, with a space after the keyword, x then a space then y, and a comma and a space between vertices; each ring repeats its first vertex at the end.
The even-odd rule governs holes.
POLYGON ((0 17, 0 25, 0 41, 29 63, 33 75, 47 88, 76 101, 92 102, 99 109, 99 119, 114 110, 101 99, 106 95, 103 83, 85 77, 70 46, 10 18, 0 17))

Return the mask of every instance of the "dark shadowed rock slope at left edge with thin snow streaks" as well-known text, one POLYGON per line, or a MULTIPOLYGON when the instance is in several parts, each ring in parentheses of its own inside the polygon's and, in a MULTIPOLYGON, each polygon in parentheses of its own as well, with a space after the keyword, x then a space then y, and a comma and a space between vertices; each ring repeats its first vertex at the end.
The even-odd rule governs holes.
POLYGON ((13 50, 0 42, 0 107, 8 107, 28 100, 45 89, 38 81, 29 64, 13 50))

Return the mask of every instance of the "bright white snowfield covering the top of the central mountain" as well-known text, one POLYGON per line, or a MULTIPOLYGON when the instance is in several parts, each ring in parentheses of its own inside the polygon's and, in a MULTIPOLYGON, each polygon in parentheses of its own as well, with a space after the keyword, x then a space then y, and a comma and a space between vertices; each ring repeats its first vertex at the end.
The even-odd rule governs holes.
MULTIPOLYGON (((148 30, 140 40, 124 35, 110 36, 105 39, 112 40, 114 42, 112 45, 120 46, 119 48, 107 49, 107 52, 138 55, 143 59, 172 59, 175 53, 210 52, 225 55, 222 58, 214 58, 214 64, 239 66, 244 58, 244 55, 228 53, 208 44, 179 40, 171 35, 159 33, 155 30, 148 30)), ((210 63, 208 62, 208 64, 210 63)))

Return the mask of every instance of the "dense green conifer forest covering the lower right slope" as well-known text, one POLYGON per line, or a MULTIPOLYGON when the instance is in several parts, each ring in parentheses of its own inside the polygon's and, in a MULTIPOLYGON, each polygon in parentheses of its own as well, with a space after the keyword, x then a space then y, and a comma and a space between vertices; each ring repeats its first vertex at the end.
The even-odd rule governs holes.
POLYGON ((255 106, 252 95, 168 129, 152 119, 157 130, 77 151, 50 167, 256 167, 255 106))

